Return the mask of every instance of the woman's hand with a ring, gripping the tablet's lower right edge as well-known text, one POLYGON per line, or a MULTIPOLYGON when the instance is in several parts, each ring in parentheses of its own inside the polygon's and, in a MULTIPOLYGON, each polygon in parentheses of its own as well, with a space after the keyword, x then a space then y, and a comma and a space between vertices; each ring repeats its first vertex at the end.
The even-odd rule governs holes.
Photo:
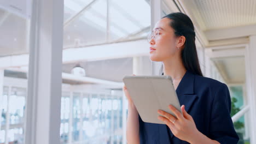
POLYGON ((158 116, 158 119, 165 122, 165 124, 171 129, 174 136, 183 141, 193 141, 193 139, 197 137, 196 135, 200 132, 196 128, 193 117, 191 117, 185 110, 185 106, 181 106, 183 115, 174 106, 169 105, 168 107, 177 118, 170 113, 158 110, 158 113, 162 115, 158 116))

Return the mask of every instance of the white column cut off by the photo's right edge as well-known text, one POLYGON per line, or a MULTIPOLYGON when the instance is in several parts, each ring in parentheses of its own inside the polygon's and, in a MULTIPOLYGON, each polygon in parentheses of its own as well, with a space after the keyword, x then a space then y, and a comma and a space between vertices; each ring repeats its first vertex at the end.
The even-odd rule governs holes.
POLYGON ((251 143, 256 143, 256 35, 252 35, 249 38, 249 46, 247 47, 246 64, 247 71, 247 87, 248 87, 248 104, 250 105, 251 116, 251 143))

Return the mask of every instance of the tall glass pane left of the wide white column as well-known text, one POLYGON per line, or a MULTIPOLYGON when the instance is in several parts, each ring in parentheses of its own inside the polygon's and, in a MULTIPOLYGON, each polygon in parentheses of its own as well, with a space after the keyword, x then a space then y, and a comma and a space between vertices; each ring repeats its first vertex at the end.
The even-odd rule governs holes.
POLYGON ((24 13, 30 9, 31 1, 0 3, 0 143, 24 143, 31 26, 30 14, 24 13), (17 11, 4 3, 9 3, 17 11))

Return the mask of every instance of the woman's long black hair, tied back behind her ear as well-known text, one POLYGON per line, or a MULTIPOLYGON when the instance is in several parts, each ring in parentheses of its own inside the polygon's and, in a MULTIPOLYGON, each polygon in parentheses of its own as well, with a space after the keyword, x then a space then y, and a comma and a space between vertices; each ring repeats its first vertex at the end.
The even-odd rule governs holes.
POLYGON ((189 70, 193 74, 202 76, 202 71, 197 57, 193 22, 183 13, 171 13, 162 17, 162 19, 165 17, 171 19, 170 26, 173 28, 176 37, 183 35, 186 38, 184 49, 181 53, 185 69, 189 70))

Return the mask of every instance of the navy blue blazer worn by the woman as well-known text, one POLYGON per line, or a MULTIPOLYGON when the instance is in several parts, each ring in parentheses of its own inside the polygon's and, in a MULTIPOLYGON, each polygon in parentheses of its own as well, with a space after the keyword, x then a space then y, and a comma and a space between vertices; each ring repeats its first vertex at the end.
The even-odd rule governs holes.
MULTIPOLYGON (((228 87, 219 81, 194 75, 187 70, 176 93, 181 105, 195 121, 196 128, 221 144, 239 140, 230 117, 231 100, 228 87)), ((139 117, 141 144, 185 144, 165 124, 143 122, 139 117)))

